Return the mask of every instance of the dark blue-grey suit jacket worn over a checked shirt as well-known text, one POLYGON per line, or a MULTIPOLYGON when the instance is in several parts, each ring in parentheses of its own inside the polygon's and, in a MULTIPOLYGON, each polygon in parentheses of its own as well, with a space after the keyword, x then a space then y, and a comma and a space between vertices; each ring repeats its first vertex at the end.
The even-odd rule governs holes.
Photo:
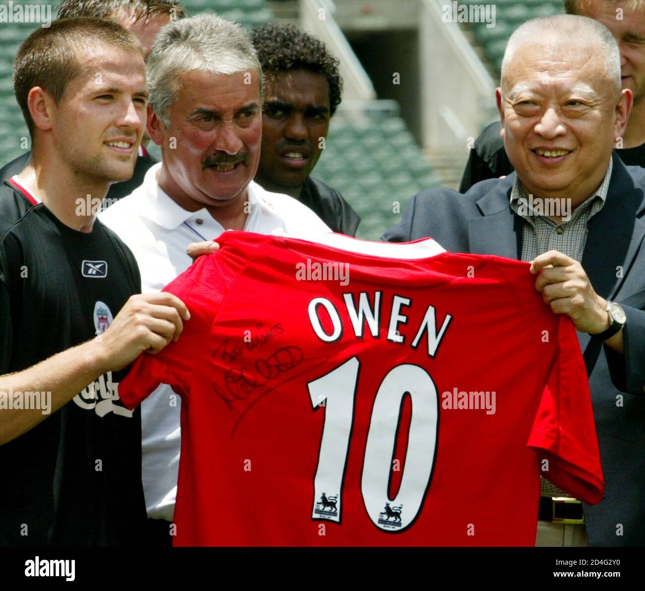
MULTIPOLYGON (((522 219, 510 209, 515 173, 461 195, 429 189, 408 202, 391 242, 432 237, 457 253, 521 258, 522 219)), ((645 545, 645 169, 613 155, 604 207, 590 222, 582 267, 603 298, 624 308, 625 355, 579 333, 589 374, 605 496, 585 505, 593 546, 645 545), (622 536, 617 536, 622 527, 622 536)))

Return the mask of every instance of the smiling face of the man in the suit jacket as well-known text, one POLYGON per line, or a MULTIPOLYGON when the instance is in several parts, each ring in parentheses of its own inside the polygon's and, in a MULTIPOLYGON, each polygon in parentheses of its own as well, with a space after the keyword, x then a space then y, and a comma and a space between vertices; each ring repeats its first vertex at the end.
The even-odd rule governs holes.
POLYGON ((497 89, 504 147, 524 188, 574 206, 602 182, 631 106, 630 91, 617 99, 600 49, 583 41, 522 44, 497 89))

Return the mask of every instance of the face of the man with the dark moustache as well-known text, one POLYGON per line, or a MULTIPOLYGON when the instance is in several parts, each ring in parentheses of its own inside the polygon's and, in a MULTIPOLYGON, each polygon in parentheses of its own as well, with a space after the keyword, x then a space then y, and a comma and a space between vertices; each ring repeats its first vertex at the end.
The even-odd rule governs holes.
POLYGON ((181 75, 168 119, 168 128, 155 113, 148 121, 150 136, 162 146, 164 191, 186 209, 244 199, 260 159, 258 73, 181 75))

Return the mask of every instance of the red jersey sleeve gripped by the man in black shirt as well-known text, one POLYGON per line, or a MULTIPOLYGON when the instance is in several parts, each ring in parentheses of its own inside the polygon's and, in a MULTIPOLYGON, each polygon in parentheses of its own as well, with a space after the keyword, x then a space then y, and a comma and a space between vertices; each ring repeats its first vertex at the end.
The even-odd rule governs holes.
POLYGON ((254 236, 240 246, 236 232, 224 232, 217 242, 221 249, 199 257, 195 264, 170 282, 161 291, 174 294, 186 304, 190 319, 183 321, 183 332, 177 342, 168 344, 157 354, 143 353, 119 383, 119 398, 128 409, 140 404, 160 383, 167 383, 181 396, 190 393, 193 369, 203 360, 208 363, 206 344, 210 329, 229 287, 241 273, 257 247, 268 237, 254 236), (206 356, 206 357, 204 357, 206 356))

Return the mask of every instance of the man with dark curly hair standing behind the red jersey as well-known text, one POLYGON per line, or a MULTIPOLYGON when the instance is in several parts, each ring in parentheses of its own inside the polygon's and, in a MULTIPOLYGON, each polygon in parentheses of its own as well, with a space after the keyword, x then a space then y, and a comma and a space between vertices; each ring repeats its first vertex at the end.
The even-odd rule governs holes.
POLYGON ((341 102, 339 61, 292 24, 265 24, 252 39, 266 82, 255 182, 299 200, 333 231, 355 236, 361 218, 341 193, 310 177, 341 102))

